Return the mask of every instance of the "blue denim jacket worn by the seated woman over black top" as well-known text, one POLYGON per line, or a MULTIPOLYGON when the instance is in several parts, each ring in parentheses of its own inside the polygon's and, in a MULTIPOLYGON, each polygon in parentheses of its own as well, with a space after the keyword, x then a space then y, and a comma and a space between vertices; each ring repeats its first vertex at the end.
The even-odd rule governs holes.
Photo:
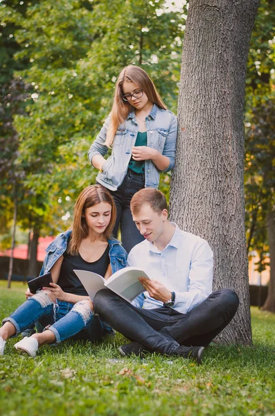
MULTIPOLYGON (((55 262, 62 256, 66 250, 69 236, 71 235, 71 229, 68 229, 61 234, 58 234, 55 240, 46 248, 46 257, 42 265, 40 276, 44 273, 48 273, 53 267, 55 262)), ((112 267, 112 274, 117 270, 125 268, 127 262, 127 252, 122 247, 120 241, 116 239, 109 239, 109 258, 112 267)))

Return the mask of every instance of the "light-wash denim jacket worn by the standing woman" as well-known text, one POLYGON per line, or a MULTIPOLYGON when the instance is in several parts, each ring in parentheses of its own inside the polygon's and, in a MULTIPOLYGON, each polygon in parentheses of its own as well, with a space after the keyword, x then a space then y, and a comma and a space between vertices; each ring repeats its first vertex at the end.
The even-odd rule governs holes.
MULTIPOLYGON (((108 148, 104 145, 110 116, 105 120, 96 140, 89 149, 90 162, 95 155, 106 155, 108 148)), ((177 140, 177 117, 168 110, 163 110, 153 105, 150 114, 145 118, 147 128, 147 146, 158 150, 162 155, 170 159, 168 168, 170 171, 175 164, 175 148, 177 140)), ((132 148, 136 142, 139 125, 136 123, 134 110, 132 110, 122 123, 114 137, 112 155, 103 164, 103 172, 99 172, 96 180, 107 189, 116 191, 121 186, 127 173, 127 168, 132 156, 132 148)), ((145 188, 157 188, 159 186, 159 169, 152 160, 145 160, 145 188)))

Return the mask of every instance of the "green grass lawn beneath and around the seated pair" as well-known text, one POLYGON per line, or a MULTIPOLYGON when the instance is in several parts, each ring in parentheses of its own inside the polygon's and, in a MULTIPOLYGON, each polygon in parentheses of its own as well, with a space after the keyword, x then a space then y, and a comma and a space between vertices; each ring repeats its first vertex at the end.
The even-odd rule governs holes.
MULTIPOLYGON (((0 281, 0 318, 24 301, 21 283, 0 281)), ((67 341, 0 357, 0 414, 17 416, 275 415, 275 315, 252 308, 254 347, 206 350, 204 364, 158 354, 122 359, 125 338, 67 341)))

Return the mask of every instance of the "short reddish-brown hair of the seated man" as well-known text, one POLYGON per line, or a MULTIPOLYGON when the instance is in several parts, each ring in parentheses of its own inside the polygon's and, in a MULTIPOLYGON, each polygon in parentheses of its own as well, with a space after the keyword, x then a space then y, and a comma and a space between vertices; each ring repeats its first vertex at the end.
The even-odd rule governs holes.
POLYGON ((132 214, 138 214, 144 204, 150 205, 158 214, 161 214, 163 209, 168 209, 166 197, 154 188, 144 188, 134 194, 130 204, 132 214))

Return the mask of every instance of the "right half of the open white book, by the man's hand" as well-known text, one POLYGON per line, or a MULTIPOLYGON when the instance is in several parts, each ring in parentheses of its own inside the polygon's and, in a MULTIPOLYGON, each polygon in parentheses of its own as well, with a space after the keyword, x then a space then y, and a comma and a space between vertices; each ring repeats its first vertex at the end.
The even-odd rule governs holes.
POLYGON ((150 279, 144 270, 135 267, 126 267, 118 270, 114 275, 109 277, 105 286, 128 302, 132 302, 136 296, 145 292, 145 288, 140 283, 139 277, 150 279))

